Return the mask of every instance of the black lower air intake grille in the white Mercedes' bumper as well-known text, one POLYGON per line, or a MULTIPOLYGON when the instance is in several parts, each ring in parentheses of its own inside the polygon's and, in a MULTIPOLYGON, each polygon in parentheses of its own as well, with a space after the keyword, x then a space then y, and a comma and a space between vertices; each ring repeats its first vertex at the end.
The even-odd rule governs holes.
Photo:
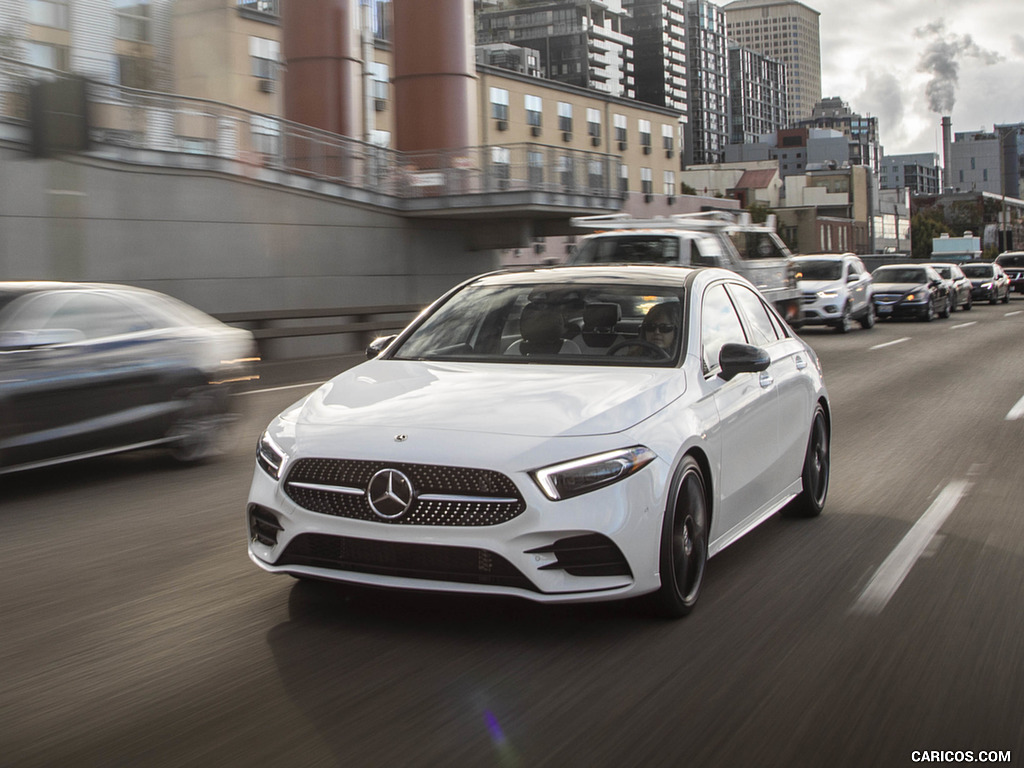
POLYGON ((504 557, 472 547, 300 534, 291 541, 275 565, 310 565, 356 573, 538 591, 504 557))

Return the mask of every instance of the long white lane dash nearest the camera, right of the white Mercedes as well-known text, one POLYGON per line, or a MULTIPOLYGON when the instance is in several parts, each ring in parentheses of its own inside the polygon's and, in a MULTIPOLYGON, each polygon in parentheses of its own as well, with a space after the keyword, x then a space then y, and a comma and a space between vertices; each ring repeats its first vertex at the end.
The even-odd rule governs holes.
POLYGON ((928 548, 935 534, 971 487, 969 480, 953 480, 896 545, 860 593, 851 612, 878 614, 903 583, 910 568, 928 548))

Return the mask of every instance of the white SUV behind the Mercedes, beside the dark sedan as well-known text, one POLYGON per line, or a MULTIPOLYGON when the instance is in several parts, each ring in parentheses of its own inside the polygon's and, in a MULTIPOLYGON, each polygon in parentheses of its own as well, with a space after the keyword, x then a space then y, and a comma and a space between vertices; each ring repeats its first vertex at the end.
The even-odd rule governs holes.
POLYGON ((830 326, 840 333, 874 325, 871 274, 852 253, 797 256, 797 285, 804 294, 803 325, 830 326))

